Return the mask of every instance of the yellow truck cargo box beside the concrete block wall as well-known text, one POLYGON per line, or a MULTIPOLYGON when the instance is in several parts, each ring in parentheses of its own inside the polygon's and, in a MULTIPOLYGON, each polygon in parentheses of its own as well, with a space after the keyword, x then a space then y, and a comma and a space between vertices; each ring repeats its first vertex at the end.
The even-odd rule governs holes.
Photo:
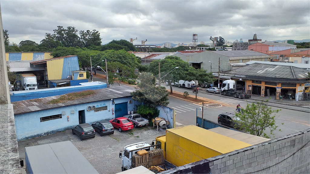
POLYGON ((166 130, 166 160, 177 167, 249 146, 195 125, 166 130))

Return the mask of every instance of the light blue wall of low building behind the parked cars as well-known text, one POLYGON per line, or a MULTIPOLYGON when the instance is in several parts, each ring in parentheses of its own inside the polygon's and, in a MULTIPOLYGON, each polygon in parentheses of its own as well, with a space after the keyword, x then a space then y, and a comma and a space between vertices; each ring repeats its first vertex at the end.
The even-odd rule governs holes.
MULTIPOLYGON (((114 102, 123 103, 128 102, 128 111, 132 111, 135 108, 135 104, 139 104, 135 101, 129 104, 129 100, 131 97, 123 97, 123 98, 114 98, 114 102)), ((96 121, 100 120, 111 120, 115 118, 115 114, 112 114, 114 105, 112 104, 111 100, 103 100, 103 101, 96 101, 90 103, 83 103, 78 105, 72 106, 65 106, 65 107, 58 107, 54 109, 42 110, 42 111, 34 111, 30 113, 24 114, 15 114, 15 127, 16 127, 16 135, 17 140, 24 140, 33 137, 39 137, 51 133, 57 133, 64 130, 69 130, 73 126, 79 124, 78 119, 78 111, 85 110, 85 122, 88 124, 92 124, 96 121), (88 106, 95 106, 95 107, 103 107, 108 106, 108 110, 105 111, 98 111, 94 112, 94 110, 87 111, 88 106), (71 114, 71 110, 74 110, 74 113, 71 114), (65 115, 62 115, 61 119, 55 120, 48 120, 40 122, 40 117, 51 116, 61 114, 65 112, 65 115), (67 119, 69 116, 69 121, 67 119)), ((135 110, 134 110, 135 111, 135 110)), ((76 137, 78 138, 78 137, 76 137)))

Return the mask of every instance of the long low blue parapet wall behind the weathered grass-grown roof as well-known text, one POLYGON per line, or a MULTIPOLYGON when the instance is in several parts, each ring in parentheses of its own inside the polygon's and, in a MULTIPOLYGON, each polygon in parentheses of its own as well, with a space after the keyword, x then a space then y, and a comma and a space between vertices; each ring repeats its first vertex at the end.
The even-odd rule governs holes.
MULTIPOLYGON (((76 80, 72 80, 72 81, 76 81, 76 80)), ((81 81, 79 83, 81 83, 81 81)), ((29 91, 13 91, 12 95, 10 95, 10 98, 11 98, 11 102, 17 102, 21 100, 51 97, 55 95, 81 92, 85 90, 102 89, 106 87, 107 87, 107 84, 102 82, 102 84, 95 84, 95 85, 78 85, 78 86, 67 86, 67 87, 60 87, 60 88, 37 89, 37 90, 29 90, 29 91)))

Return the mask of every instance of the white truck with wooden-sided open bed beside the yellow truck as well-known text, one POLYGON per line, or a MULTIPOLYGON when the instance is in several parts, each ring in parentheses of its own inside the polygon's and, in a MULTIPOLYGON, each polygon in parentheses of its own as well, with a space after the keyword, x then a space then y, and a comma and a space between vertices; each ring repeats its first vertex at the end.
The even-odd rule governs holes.
POLYGON ((119 157, 122 158, 122 171, 141 165, 149 168, 151 166, 165 164, 163 150, 155 149, 155 146, 156 145, 149 145, 146 142, 139 142, 125 146, 124 150, 119 153, 119 157), (140 156, 137 154, 140 150, 146 150, 147 154, 140 156))

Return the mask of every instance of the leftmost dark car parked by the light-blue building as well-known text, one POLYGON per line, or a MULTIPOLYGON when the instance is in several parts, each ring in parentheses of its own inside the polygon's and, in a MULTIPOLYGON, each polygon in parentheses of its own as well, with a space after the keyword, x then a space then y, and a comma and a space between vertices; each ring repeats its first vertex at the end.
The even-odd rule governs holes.
POLYGON ((82 123, 72 128, 72 134, 76 134, 82 141, 85 138, 95 138, 95 129, 88 123, 82 123))

